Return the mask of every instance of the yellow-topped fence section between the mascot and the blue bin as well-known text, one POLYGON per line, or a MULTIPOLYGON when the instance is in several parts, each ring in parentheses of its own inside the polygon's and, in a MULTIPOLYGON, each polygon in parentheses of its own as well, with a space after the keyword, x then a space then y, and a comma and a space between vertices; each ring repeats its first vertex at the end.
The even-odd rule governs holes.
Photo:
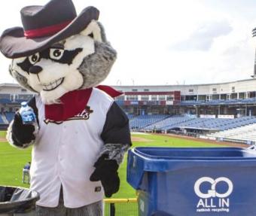
POLYGON ((104 216, 137 216, 137 198, 131 199, 104 199, 104 216))

